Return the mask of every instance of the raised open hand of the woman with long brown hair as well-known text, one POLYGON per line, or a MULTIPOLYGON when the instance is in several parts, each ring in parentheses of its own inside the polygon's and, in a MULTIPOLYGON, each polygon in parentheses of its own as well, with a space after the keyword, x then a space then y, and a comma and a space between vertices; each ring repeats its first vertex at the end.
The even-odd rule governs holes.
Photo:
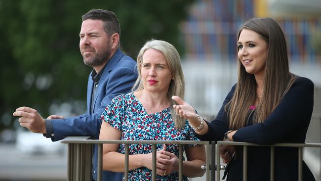
POLYGON ((196 116, 196 112, 194 107, 190 104, 184 102, 179 96, 173 95, 172 99, 174 99, 179 105, 173 105, 173 108, 176 111, 176 114, 183 117, 184 119, 198 119, 196 116))

